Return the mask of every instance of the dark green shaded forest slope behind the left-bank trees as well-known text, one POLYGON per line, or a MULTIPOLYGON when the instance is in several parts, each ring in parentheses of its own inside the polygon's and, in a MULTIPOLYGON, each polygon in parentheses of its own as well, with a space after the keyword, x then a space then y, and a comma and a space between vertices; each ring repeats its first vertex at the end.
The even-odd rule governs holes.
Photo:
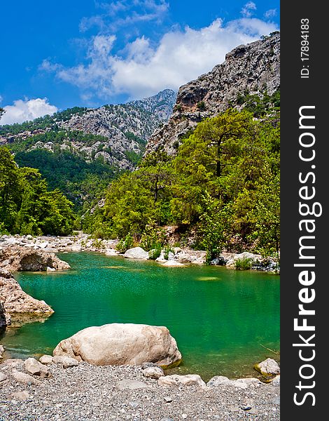
MULTIPOLYGON (((20 167, 38 169, 50 189, 60 189, 73 201, 75 210, 82 211, 83 207, 90 207, 91 203, 102 196, 118 172, 103 156, 95 156, 97 152, 113 156, 106 142, 108 139, 104 136, 81 131, 48 131, 26 139, 18 138, 8 147, 15 152, 15 161, 20 167), (72 142, 92 147, 92 152, 88 155, 81 149, 76 151, 72 142), (42 147, 36 147, 37 144, 42 147), (51 150, 43 149, 47 144, 51 150), (31 149, 33 147, 36 149, 31 149)), ((133 153, 127 157, 132 162, 140 158, 133 153)))

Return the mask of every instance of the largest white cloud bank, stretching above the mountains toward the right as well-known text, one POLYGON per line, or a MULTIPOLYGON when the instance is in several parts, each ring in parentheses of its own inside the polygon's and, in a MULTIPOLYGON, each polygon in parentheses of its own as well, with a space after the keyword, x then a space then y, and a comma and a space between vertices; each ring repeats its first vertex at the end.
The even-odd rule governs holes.
MULTIPOLYGON (((59 79, 93 93, 102 100, 118 94, 130 99, 144 98, 164 88, 177 90, 225 60, 225 54, 276 29, 272 22, 241 18, 223 25, 217 19, 208 27, 167 32, 158 45, 141 36, 123 51, 113 53, 115 36, 94 36, 87 51, 87 65, 58 67, 59 79)), ((47 65, 49 69, 52 66, 47 65)), ((47 67, 43 66, 43 67, 47 67)))

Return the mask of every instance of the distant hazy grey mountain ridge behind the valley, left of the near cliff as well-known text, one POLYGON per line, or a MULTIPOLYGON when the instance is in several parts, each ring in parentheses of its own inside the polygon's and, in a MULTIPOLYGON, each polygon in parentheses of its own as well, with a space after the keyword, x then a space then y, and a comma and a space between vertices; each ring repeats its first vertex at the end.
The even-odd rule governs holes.
MULTIPOLYGON (((54 152, 51 140, 45 136, 47 141, 43 142, 42 135, 51 131, 65 131, 68 140, 61 145, 63 148, 70 149, 78 156, 83 154, 86 161, 102 157, 119 170, 131 171, 155 128, 172 114, 175 100, 176 93, 165 89, 151 97, 125 104, 103 105, 95 109, 73 107, 34 121, 0 126, 0 145, 16 144, 17 149, 20 142, 35 138, 36 141, 29 142, 32 145, 25 152, 34 149, 54 152), (85 145, 76 139, 75 132, 102 136, 102 140, 95 139, 92 145, 85 145)), ((24 147, 22 143, 20 152, 24 147)))

